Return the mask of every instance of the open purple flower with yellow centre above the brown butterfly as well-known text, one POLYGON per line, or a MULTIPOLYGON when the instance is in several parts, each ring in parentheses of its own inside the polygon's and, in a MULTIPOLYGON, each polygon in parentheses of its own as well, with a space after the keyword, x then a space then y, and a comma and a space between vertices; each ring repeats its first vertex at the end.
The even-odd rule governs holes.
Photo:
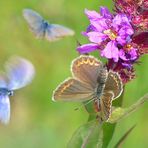
POLYGON ((88 37, 91 44, 78 47, 80 53, 88 53, 100 49, 101 56, 113 59, 118 62, 119 58, 128 60, 136 58, 133 50, 127 56, 123 46, 131 42, 131 35, 134 30, 130 24, 130 19, 123 13, 112 15, 105 7, 100 8, 100 14, 96 11, 85 10, 90 20, 87 31, 83 34, 88 37))

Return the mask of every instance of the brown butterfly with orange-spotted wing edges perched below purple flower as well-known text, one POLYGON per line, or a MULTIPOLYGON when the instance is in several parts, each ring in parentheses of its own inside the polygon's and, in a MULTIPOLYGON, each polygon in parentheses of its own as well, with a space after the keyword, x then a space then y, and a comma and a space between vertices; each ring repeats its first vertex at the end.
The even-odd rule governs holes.
POLYGON ((81 55, 71 66, 72 77, 62 82, 53 92, 53 101, 97 101, 102 121, 111 115, 112 101, 118 98, 123 85, 118 73, 108 71, 93 56, 81 55))

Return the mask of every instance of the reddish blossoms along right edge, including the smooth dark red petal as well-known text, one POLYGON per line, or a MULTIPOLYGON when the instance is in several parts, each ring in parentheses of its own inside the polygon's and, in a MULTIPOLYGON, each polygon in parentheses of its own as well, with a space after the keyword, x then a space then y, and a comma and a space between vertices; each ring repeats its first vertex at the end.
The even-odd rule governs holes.
POLYGON ((115 11, 131 18, 134 28, 133 43, 139 54, 148 53, 148 1, 147 0, 114 0, 115 11))

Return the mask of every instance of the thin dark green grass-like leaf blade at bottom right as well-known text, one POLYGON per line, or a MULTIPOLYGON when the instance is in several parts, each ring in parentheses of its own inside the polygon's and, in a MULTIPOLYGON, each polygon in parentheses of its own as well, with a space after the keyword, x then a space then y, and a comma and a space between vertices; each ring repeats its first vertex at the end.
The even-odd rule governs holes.
POLYGON ((118 141, 118 143, 114 146, 114 148, 120 148, 123 144, 123 142, 126 140, 128 135, 132 132, 132 130, 135 128, 136 125, 133 125, 118 141))

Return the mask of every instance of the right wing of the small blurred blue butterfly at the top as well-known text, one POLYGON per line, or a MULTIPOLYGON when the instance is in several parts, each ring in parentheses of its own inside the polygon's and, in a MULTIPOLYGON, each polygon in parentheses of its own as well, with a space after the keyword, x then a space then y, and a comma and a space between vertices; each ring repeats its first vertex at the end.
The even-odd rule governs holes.
POLYGON ((45 38, 48 41, 56 41, 72 35, 74 35, 73 30, 58 24, 49 24, 45 32, 45 38))

